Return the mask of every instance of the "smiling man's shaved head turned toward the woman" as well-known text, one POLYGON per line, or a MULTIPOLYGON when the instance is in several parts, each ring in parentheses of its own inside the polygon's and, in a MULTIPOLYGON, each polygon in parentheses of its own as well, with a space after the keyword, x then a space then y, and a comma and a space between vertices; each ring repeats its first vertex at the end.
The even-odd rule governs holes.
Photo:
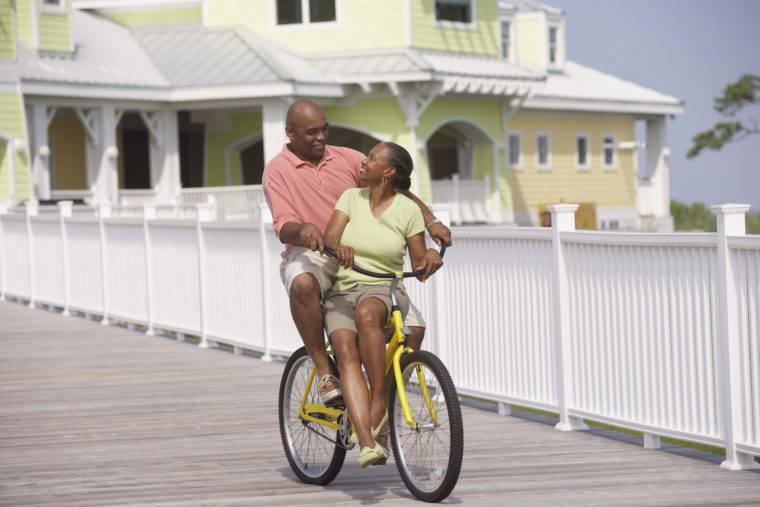
POLYGON ((301 160, 319 165, 325 154, 328 128, 325 112, 318 104, 301 99, 288 108, 285 116, 285 133, 290 139, 288 148, 301 160))

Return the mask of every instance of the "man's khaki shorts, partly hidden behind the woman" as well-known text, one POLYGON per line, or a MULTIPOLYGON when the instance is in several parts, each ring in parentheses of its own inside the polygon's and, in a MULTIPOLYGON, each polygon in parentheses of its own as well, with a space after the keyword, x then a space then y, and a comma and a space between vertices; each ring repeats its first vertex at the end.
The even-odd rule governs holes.
MULTIPOLYGON (((280 279, 282 279, 285 291, 288 297, 290 297, 290 286, 293 284, 293 280, 303 273, 311 273, 319 284, 322 291, 322 300, 324 301, 325 296, 335 283, 338 267, 338 260, 335 257, 322 255, 319 252, 302 246, 296 246, 293 247, 288 256, 280 263, 280 279)), ((390 300, 390 289, 386 286, 385 290, 390 300)), ((411 327, 427 327, 422 314, 411 302, 409 303, 409 313, 405 317, 404 323, 411 327)))

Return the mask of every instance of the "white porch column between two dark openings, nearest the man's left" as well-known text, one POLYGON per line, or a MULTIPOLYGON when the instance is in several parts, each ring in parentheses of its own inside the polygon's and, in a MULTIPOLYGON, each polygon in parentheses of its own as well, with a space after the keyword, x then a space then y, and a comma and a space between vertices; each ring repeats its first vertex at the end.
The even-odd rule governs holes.
POLYGON ((151 136, 151 186, 158 192, 159 203, 171 203, 179 194, 179 126, 175 111, 163 110, 153 114, 155 140, 151 136))

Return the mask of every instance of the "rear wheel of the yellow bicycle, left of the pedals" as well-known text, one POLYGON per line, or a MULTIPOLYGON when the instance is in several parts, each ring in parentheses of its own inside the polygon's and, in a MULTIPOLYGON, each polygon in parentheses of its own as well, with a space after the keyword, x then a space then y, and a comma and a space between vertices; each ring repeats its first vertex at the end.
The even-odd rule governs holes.
MULTIPOLYGON (((337 377, 337 368, 329 358, 330 368, 337 377)), ((324 486, 340 472, 346 449, 339 444, 339 432, 302 420, 298 410, 313 364, 305 347, 296 350, 288 359, 280 381, 280 437, 285 456, 293 472, 307 484, 324 486)), ((309 394, 311 403, 319 402, 316 380, 309 394)))

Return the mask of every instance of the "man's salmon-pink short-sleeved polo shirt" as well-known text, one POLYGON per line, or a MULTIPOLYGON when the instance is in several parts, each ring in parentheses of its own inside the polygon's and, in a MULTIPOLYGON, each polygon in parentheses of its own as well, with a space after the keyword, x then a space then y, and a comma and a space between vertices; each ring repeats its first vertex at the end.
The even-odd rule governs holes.
MULTIPOLYGON (((314 224, 323 233, 338 198, 359 183, 359 168, 366 158, 351 148, 325 146, 318 167, 298 158, 285 145, 264 170, 264 196, 272 211, 274 230, 280 236, 288 222, 314 224)), ((287 245, 283 257, 293 245, 287 245)))

